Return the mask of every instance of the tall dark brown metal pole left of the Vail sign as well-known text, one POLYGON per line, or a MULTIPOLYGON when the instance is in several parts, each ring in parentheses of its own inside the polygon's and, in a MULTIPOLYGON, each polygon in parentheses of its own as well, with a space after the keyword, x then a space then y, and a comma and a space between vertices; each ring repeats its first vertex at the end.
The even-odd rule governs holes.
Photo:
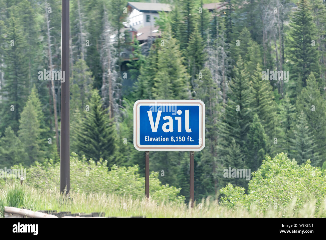
POLYGON ((61 18, 61 121, 60 121, 60 192, 70 190, 69 143, 69 0, 62 0, 61 18))

